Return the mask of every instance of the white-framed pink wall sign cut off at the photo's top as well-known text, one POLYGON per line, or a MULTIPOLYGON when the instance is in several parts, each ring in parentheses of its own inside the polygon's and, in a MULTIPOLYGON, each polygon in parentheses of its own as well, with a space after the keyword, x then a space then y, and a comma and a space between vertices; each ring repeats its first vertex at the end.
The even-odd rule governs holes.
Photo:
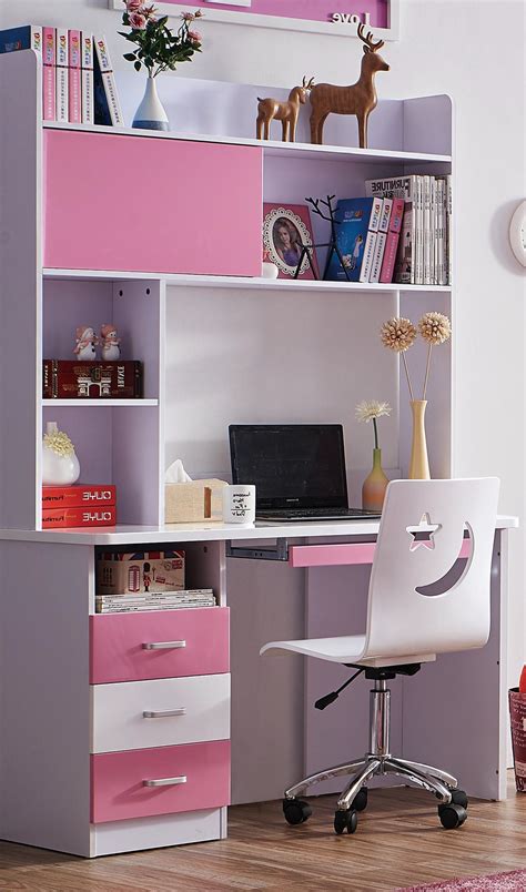
MULTIPOLYGON (((110 9, 122 11, 122 0, 108 0, 110 9)), ((163 16, 179 16, 182 11, 200 9, 208 21, 230 24, 249 24, 259 28, 279 28, 287 31, 307 31, 316 34, 336 34, 356 38, 356 29, 363 22, 382 40, 399 40, 399 0, 362 0, 360 13, 351 3, 320 2, 325 7, 322 17, 305 17, 304 0, 162 0, 155 3, 163 16), (283 11, 281 11, 283 9, 283 11), (277 11, 280 10, 280 11, 277 11)))

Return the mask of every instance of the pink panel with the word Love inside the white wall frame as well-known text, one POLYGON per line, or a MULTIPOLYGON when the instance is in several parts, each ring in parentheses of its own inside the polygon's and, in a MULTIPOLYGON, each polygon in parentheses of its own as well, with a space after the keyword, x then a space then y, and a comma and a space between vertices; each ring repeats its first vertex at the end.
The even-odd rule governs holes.
MULTIPOLYGON (((262 17, 272 17, 283 21, 282 27, 287 27, 290 19, 304 23, 325 23, 338 28, 347 24, 350 28, 356 26, 357 20, 370 24, 371 28, 388 29, 392 27, 393 0, 232 0, 231 3, 215 2, 215 0, 202 0, 200 8, 206 16, 210 12, 223 11, 235 13, 235 21, 246 17, 246 23, 264 24, 262 17), (356 19, 357 17, 357 19, 356 19), (255 19, 260 21, 256 21, 255 19)), ((188 0, 163 0, 159 4, 162 8, 168 6, 189 8, 188 0)), ((218 18, 215 14, 211 18, 218 18)), ((225 21, 225 17, 221 17, 225 21)), ((269 22, 276 24, 276 22, 269 22)), ((280 27, 280 26, 277 26, 280 27)), ((314 30, 314 29, 307 29, 314 30)))

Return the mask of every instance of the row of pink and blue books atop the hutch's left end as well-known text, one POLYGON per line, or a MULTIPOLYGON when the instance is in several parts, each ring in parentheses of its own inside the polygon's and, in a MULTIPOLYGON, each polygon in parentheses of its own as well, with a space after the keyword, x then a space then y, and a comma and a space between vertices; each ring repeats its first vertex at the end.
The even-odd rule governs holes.
POLYGON ((0 53, 17 50, 34 50, 42 59, 44 121, 124 125, 102 34, 36 24, 0 31, 0 53))

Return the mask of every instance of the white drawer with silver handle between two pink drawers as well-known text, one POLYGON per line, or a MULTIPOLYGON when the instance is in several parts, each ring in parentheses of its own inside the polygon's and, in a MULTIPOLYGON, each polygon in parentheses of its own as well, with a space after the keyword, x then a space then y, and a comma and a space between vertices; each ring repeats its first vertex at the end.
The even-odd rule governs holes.
POLYGON ((91 752, 229 738, 229 673, 91 686, 91 752))

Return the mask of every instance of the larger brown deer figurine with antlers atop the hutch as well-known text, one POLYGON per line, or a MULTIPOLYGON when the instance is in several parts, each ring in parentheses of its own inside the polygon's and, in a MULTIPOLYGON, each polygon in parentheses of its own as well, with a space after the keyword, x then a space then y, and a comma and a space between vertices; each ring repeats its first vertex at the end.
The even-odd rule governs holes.
POLYGON ((358 24, 358 38, 365 43, 360 79, 351 87, 335 87, 333 83, 317 83, 311 90, 311 142, 321 145, 323 124, 331 112, 334 114, 355 114, 358 119, 360 148, 367 148, 367 119, 376 108, 377 97, 374 77, 377 71, 388 71, 378 50, 383 40, 373 43, 373 33, 364 37, 364 26, 358 24))

